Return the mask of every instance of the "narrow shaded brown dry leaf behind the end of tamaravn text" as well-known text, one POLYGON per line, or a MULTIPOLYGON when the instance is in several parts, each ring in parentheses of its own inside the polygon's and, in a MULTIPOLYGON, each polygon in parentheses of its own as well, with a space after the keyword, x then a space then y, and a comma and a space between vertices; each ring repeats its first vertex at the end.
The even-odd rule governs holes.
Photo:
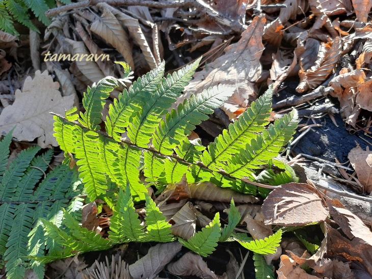
MULTIPOLYGON (((82 38, 82 40, 84 41, 85 45, 88 47, 90 53, 92 54, 97 54, 97 56, 99 57, 100 55, 104 55, 104 52, 102 51, 102 49, 100 49, 97 44, 92 40, 92 38, 88 35, 87 32, 85 32, 84 28, 83 28, 83 25, 77 21, 76 22, 76 28, 75 28, 76 32, 80 35, 80 37, 82 38)), ((102 73, 105 75, 105 76, 114 76, 114 65, 112 63, 112 61, 110 60, 102 60, 102 59, 97 59, 97 61, 95 61, 99 67, 99 69, 102 71, 102 73)))

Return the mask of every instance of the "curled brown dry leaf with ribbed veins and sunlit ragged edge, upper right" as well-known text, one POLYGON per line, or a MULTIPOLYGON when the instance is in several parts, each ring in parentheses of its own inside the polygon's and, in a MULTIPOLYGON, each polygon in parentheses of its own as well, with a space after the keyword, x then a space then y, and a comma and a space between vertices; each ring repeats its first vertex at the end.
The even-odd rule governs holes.
POLYGON ((334 69, 342 54, 341 40, 337 37, 332 43, 324 46, 325 51, 322 51, 321 48, 315 65, 306 71, 301 70, 299 72, 300 84, 296 88, 297 92, 304 93, 308 89, 313 89, 321 85, 334 69))

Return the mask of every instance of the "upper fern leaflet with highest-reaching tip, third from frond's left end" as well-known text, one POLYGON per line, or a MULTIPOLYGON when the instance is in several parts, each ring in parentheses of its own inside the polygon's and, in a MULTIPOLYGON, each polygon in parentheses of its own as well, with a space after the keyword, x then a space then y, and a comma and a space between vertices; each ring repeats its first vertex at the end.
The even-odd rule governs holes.
POLYGON ((168 108, 179 97, 183 88, 189 84, 200 59, 188 65, 167 78, 163 78, 160 86, 152 97, 145 102, 137 117, 134 117, 128 126, 130 141, 139 147, 146 147, 168 108))

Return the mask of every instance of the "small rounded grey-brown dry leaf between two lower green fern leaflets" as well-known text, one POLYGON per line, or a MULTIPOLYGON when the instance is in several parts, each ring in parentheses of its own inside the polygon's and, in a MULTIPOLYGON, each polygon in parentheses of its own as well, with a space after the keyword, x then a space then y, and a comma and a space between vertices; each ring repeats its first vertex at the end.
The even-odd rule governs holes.
POLYGON ((192 204, 186 203, 182 208, 174 214, 170 223, 172 224, 173 235, 190 239, 195 234, 196 215, 191 209, 192 204))

